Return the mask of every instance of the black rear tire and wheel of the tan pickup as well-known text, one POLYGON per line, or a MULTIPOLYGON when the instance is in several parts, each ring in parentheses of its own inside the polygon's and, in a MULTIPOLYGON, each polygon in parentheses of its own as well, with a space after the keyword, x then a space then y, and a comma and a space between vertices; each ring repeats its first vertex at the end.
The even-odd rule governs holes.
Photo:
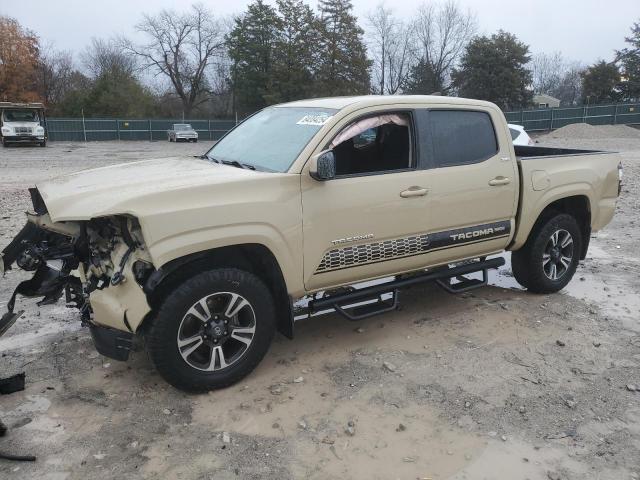
POLYGON ((530 292, 557 292, 576 273, 581 252, 576 219, 565 213, 547 215, 536 222, 523 247, 511 254, 513 276, 530 292))

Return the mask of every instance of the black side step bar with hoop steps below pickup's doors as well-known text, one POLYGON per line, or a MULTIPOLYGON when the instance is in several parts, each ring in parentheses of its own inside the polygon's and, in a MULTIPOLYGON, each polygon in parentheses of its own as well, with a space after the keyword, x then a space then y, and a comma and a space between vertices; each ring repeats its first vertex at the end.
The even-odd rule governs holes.
POLYGON ((390 282, 351 290, 335 296, 313 299, 309 301, 307 306, 308 313, 313 314, 321 310, 334 309, 348 320, 361 320, 362 318, 367 318, 378 313, 388 312, 397 308, 398 289, 400 288, 435 281, 440 287, 450 293, 460 293, 486 285, 488 278, 487 271, 489 269, 501 267, 504 263, 505 260, 502 257, 492 258, 490 260, 480 260, 478 262, 466 263, 456 267, 436 270, 434 272, 426 272, 405 278, 396 278, 390 282), (464 275, 476 272, 482 272, 482 280, 463 277, 464 275), (452 283, 452 279, 454 278, 457 279, 458 282, 452 283), (389 293, 393 295, 391 302, 383 301, 382 295, 389 293), (351 313, 348 310, 354 311, 356 308, 362 310, 365 307, 350 307, 348 310, 345 308, 345 306, 353 305, 357 302, 376 299, 377 302, 366 305, 366 311, 363 311, 362 313, 351 313), (380 307, 375 308, 376 305, 380 305, 380 307))

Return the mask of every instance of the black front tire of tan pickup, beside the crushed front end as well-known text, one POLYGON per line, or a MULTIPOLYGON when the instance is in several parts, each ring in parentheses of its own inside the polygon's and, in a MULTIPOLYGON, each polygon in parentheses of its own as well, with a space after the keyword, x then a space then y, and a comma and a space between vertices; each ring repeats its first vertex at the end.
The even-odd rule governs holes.
MULTIPOLYGON (((223 307, 222 303, 220 306, 223 307)), ((205 392, 224 388, 244 378, 265 356, 276 330, 275 307, 269 289, 257 276, 234 268, 205 271, 185 280, 166 297, 154 318, 150 320, 151 324, 145 331, 145 344, 149 357, 160 375, 168 383, 186 392, 205 392), (239 303, 246 300, 249 304, 249 307, 242 307, 242 310, 236 313, 235 320, 233 320, 233 316, 227 317, 225 314, 233 307, 232 303, 235 302, 235 299, 229 300, 230 303, 226 307, 225 313, 216 313, 219 310, 216 302, 224 301, 227 296, 233 298, 232 295, 238 295, 238 298, 241 299, 239 303), (207 304, 209 313, 209 322, 205 323, 187 313, 196 308, 197 313, 202 314, 202 301, 207 304), (209 302, 213 302, 213 304, 209 302), (229 338, 233 337, 234 328, 247 329, 240 324, 241 313, 246 318, 253 315, 254 320, 253 337, 244 350, 242 350, 242 344, 246 344, 246 341, 240 342, 237 337, 249 334, 248 332, 241 332, 241 334, 236 334, 234 338, 229 338), (218 316, 228 319, 230 327, 230 335, 226 338, 220 338, 220 340, 211 336, 212 330, 207 330, 207 328, 219 325, 222 328, 227 328, 217 320, 218 316), (186 328, 188 322, 191 322, 191 328, 194 326, 196 329, 204 328, 205 333, 194 330, 193 336, 191 334, 185 336, 188 339, 200 335, 200 340, 203 342, 185 358, 183 357, 184 353, 195 345, 195 343, 189 343, 178 347, 178 341, 183 336, 183 329, 186 328), (236 327, 231 326, 234 322, 238 323, 236 327), (207 331, 211 335, 207 336, 207 331), (226 343, 218 343, 223 340, 226 343), (212 343, 214 341, 215 345, 212 343), (239 355, 236 360, 233 360, 233 356, 226 357, 229 349, 233 352, 236 344, 240 347, 239 352, 243 353, 236 353, 239 355), (218 348, 223 351, 223 345, 227 345, 227 352, 224 352, 223 355, 214 352, 218 348), (225 361, 233 361, 225 367, 222 365, 219 355, 225 361), (203 370, 203 368, 208 368, 206 366, 207 357, 210 362, 209 367, 213 366, 213 371, 203 370), (204 362, 200 365, 201 368, 194 366, 201 359, 204 362), (220 365, 217 370, 215 370, 216 364, 220 365)), ((196 343, 200 340, 197 340, 196 343)))

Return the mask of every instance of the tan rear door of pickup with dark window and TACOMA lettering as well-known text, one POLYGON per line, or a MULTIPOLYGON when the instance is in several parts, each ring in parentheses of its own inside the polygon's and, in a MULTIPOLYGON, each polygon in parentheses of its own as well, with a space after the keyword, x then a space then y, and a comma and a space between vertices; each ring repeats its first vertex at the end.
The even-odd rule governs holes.
POLYGON ((430 166, 430 264, 503 250, 510 241, 519 178, 502 114, 461 106, 416 113, 430 166), (504 130, 504 131, 503 131, 504 130))

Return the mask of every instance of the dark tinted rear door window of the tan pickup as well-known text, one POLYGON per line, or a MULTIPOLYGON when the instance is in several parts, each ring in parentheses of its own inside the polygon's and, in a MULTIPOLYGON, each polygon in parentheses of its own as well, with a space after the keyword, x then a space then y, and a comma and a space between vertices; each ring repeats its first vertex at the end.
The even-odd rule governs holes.
POLYGON ((429 126, 436 167, 479 163, 498 152, 493 122, 486 112, 431 110, 429 126))

